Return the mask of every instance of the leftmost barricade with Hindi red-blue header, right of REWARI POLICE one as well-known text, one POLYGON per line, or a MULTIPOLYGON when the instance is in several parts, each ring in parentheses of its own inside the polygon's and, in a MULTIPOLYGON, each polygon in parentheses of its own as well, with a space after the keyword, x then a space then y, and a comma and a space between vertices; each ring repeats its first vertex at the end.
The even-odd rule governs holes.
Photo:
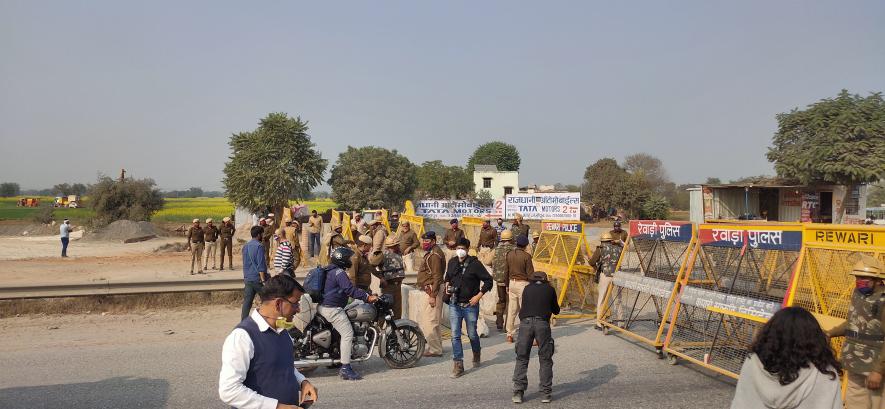
POLYGON ((695 244, 694 228, 684 221, 632 220, 629 233, 599 322, 663 356, 665 317, 695 244))

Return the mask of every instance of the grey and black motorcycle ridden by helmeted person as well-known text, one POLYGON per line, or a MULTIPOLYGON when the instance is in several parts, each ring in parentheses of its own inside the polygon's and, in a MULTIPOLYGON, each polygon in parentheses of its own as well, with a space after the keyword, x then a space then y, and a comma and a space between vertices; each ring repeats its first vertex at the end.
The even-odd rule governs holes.
MULTIPOLYGON (((418 324, 408 319, 393 319, 393 296, 383 294, 374 304, 354 301, 344 307, 353 325, 352 362, 366 361, 375 349, 387 366, 411 368, 424 355, 426 340, 418 324)), ((320 314, 314 314, 304 331, 289 330, 295 348, 295 367, 308 372, 319 366, 341 364, 338 331, 320 314)))

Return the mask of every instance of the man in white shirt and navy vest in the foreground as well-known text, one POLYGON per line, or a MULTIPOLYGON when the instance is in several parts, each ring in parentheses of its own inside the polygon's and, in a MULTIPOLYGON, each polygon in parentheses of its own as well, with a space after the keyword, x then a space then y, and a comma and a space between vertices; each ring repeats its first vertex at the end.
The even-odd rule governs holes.
POLYGON ((294 369, 288 329, 304 287, 280 274, 267 280, 261 305, 240 322, 221 350, 218 396, 239 409, 295 409, 317 399, 316 388, 294 369), (299 396, 300 395, 300 396, 299 396))

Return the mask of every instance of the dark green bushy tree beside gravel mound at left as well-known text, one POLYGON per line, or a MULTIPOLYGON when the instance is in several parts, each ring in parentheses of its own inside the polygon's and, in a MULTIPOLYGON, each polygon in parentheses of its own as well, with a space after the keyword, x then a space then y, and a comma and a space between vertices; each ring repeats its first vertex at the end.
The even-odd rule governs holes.
POLYGON ((99 176, 89 190, 98 224, 117 220, 146 221, 163 208, 163 195, 152 179, 124 180, 99 176))

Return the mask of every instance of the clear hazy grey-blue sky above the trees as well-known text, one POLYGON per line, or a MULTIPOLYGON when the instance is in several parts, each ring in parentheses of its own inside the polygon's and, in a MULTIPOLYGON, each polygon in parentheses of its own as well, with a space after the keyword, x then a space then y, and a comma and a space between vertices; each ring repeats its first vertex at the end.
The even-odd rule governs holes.
POLYGON ((637 152, 727 181, 774 174, 775 115, 843 88, 885 91, 881 0, 0 0, 0 181, 222 190, 231 134, 269 112, 330 166, 502 140, 521 185, 637 152))

